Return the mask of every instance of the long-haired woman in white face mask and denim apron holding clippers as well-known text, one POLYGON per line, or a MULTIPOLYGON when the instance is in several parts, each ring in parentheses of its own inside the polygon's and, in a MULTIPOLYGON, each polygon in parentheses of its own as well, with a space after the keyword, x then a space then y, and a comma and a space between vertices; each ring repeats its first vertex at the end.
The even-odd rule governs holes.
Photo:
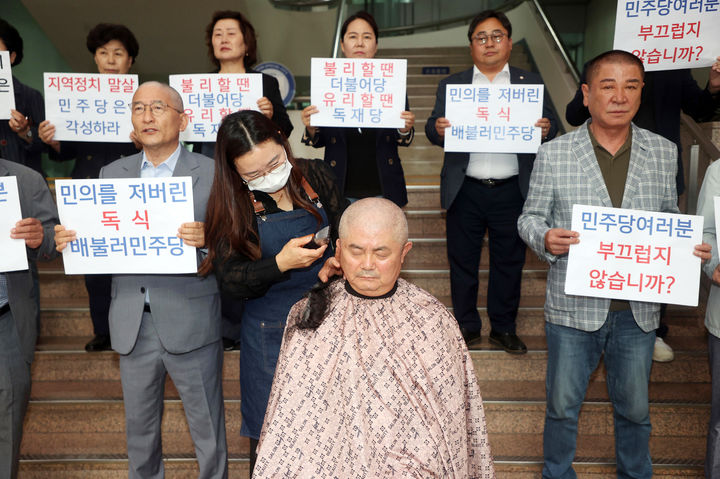
POLYGON ((240 434, 250 438, 252 471, 285 319, 332 254, 332 241, 308 243, 328 225, 336 238, 346 201, 330 168, 293 158, 277 125, 258 112, 228 115, 216 145, 200 273, 214 272, 222 294, 245 300, 240 434))

